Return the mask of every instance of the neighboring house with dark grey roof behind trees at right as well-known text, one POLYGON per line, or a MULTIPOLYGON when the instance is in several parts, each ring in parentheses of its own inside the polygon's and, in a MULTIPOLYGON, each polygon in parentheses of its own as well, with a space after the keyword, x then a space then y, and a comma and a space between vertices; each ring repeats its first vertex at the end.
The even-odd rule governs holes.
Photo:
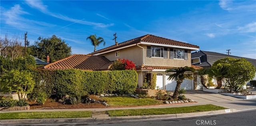
MULTIPOLYGON (((221 54, 221 53, 217 53, 217 52, 209 52, 209 51, 200 50, 200 51, 191 53, 191 64, 195 65, 195 66, 200 66, 203 68, 210 68, 215 61, 220 60, 222 58, 226 58, 226 57, 244 58, 244 57, 239 57, 239 56, 232 56, 232 55, 221 54)), ((246 59, 247 61, 252 63, 252 65, 254 65, 254 67, 256 68, 256 59, 252 59, 252 58, 244 58, 244 59, 246 59)), ((199 80, 199 78, 197 78, 197 80, 199 80)), ((253 80, 256 80, 256 74, 255 74, 255 77, 253 80)), ((200 83, 201 82, 198 81, 198 86, 197 86, 198 89, 203 88, 202 84, 200 84, 200 83)))

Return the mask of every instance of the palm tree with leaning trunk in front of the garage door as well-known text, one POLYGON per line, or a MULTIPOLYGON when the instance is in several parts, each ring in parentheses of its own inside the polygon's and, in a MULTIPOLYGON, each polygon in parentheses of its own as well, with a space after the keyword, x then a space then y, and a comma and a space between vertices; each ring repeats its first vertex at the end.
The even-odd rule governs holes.
POLYGON ((168 80, 176 80, 177 85, 175 88, 175 91, 172 95, 173 99, 177 99, 178 98, 178 91, 180 90, 180 85, 183 82, 184 79, 189 79, 192 80, 193 76, 192 74, 185 74, 185 72, 194 72, 195 69, 192 67, 179 67, 179 68, 172 68, 172 69, 168 69, 165 72, 175 72, 175 74, 171 74, 168 78, 168 80))

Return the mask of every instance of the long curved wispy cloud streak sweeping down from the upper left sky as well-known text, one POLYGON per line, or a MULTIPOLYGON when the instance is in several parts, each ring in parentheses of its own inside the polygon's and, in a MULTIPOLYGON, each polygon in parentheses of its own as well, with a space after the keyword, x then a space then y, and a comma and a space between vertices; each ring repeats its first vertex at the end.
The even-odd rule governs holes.
MULTIPOLYGON (((50 16, 59 18, 61 20, 66 20, 66 21, 70 21, 70 22, 77 22, 79 24, 97 26, 97 27, 101 27, 101 28, 106 28, 106 27, 109 27, 109 26, 114 26, 114 23, 103 24, 103 23, 97 23, 97 22, 81 21, 81 20, 78 20, 78 19, 69 18, 68 16, 63 16, 61 14, 55 14, 55 13, 49 12, 48 9, 47 9, 47 6, 44 5, 40 0, 26 0, 26 3, 31 8, 36 8, 36 9, 40 10, 41 12, 43 12, 44 14, 48 14, 50 16)), ((98 15, 98 16, 104 17, 102 15, 98 15)))

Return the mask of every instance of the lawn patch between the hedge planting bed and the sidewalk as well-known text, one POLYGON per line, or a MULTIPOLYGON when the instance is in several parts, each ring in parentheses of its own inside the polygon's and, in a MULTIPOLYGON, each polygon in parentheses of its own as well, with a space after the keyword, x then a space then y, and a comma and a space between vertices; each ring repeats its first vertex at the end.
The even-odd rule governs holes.
POLYGON ((110 106, 145 106, 145 105, 157 105, 164 104, 161 100, 152 98, 132 98, 128 97, 101 97, 101 100, 107 102, 110 106))

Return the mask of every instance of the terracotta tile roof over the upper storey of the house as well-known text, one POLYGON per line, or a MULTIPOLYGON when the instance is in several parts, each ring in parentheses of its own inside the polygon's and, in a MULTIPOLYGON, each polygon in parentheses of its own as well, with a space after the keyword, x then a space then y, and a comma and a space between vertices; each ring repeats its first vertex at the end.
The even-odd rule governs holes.
POLYGON ((107 48, 98 50, 96 52, 92 52, 92 53, 90 53, 90 55, 105 52, 105 51, 108 51, 108 50, 113 50, 113 49, 120 48, 120 47, 123 47, 123 46, 128 46, 128 45, 131 45, 131 44, 136 44, 136 43, 139 43, 139 42, 151 42, 151 43, 157 43, 157 44, 168 44, 168 45, 174 45, 174 46, 199 48, 199 46, 188 44, 188 43, 185 43, 185 42, 179 42, 179 41, 171 40, 171 39, 168 39, 168 38, 162 38, 162 37, 154 36, 154 35, 151 35, 151 34, 147 34, 145 36, 140 36, 140 37, 134 38, 132 40, 128 40, 128 41, 125 41, 125 42, 122 42, 122 43, 118 43, 118 45, 115 44, 113 46, 109 46, 107 48))

